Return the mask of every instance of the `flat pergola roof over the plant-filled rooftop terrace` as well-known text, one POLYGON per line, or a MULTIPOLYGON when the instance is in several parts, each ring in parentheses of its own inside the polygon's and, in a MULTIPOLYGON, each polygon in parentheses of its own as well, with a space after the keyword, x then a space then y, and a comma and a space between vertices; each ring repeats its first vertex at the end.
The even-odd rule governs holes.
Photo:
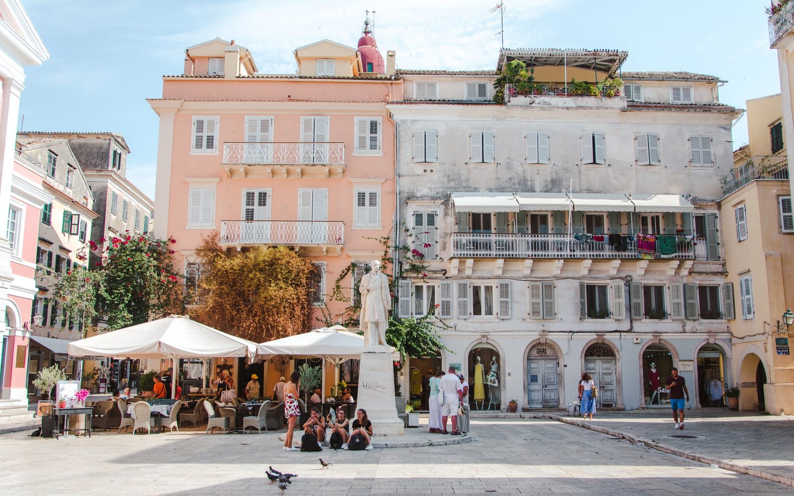
POLYGON ((578 50, 572 48, 503 48, 499 51, 496 71, 501 72, 504 64, 511 60, 521 60, 532 67, 567 66, 599 71, 607 76, 615 75, 629 52, 622 50, 578 50))

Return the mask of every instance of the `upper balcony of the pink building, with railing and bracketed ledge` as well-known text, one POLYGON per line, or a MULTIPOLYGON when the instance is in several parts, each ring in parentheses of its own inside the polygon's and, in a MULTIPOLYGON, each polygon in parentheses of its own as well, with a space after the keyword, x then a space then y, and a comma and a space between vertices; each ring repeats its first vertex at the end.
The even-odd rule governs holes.
POLYGON ((344 143, 224 143, 231 178, 335 178, 345 172, 344 143))

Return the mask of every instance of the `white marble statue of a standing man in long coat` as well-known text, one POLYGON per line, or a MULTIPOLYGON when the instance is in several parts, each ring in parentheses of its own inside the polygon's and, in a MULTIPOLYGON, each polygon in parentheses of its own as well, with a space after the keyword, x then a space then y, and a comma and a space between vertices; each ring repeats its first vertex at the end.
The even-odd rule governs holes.
POLYGON ((364 331, 364 346, 387 346, 386 329, 389 325, 391 294, 389 281, 380 271, 380 260, 369 263, 372 270, 361 278, 360 328, 364 331))

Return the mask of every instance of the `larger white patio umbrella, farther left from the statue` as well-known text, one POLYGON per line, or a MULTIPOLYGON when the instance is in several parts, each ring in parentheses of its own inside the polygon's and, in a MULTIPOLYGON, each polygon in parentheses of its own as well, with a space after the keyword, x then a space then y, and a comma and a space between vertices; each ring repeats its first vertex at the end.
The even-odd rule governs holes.
MULTIPOLYGON (((72 341, 69 343, 69 355, 171 359, 173 369, 177 371, 176 360, 180 358, 245 356, 250 361, 256 355, 256 348, 256 343, 252 341, 222 333, 187 316, 171 315, 72 341)), ((177 381, 172 380, 171 383, 174 396, 177 381)))

